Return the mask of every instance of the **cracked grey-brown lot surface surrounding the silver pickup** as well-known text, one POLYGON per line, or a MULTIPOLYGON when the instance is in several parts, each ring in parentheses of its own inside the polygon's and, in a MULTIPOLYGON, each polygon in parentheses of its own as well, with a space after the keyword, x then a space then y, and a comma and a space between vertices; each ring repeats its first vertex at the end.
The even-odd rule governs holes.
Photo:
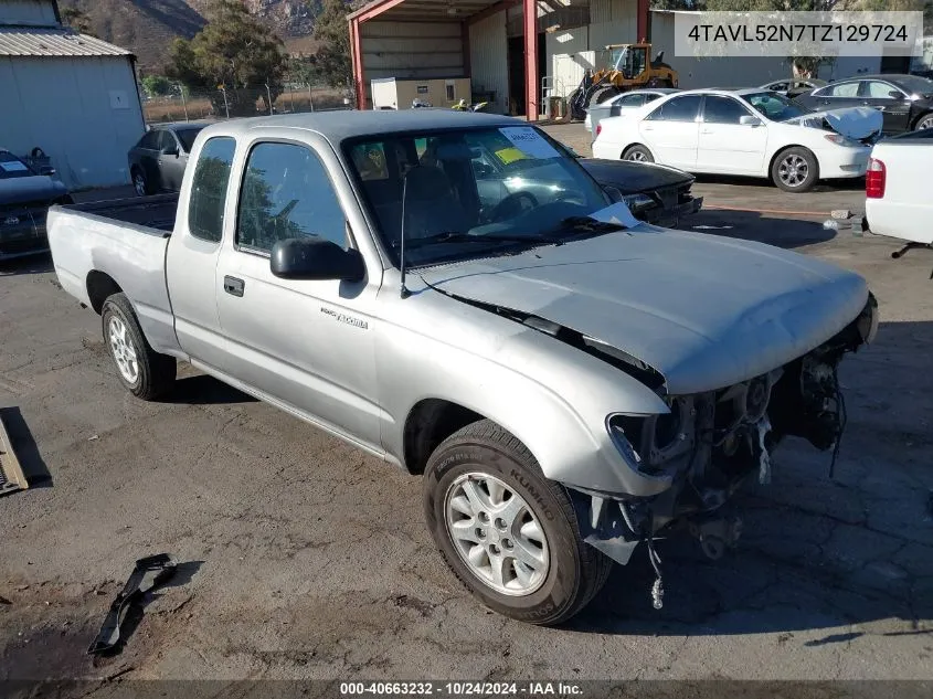
POLYGON ((844 362, 835 480, 828 454, 788 443, 773 484, 738 500, 738 550, 662 542, 659 612, 638 551, 564 628, 464 592, 417 477, 187 366, 166 401, 135 400, 46 257, 0 266, 0 407, 35 480, 0 499, 0 679, 933 679, 933 255, 825 230, 860 183, 695 189, 706 208, 681 227, 865 275, 878 341, 844 362), (92 661, 134 561, 163 551, 179 574, 123 653, 92 661))

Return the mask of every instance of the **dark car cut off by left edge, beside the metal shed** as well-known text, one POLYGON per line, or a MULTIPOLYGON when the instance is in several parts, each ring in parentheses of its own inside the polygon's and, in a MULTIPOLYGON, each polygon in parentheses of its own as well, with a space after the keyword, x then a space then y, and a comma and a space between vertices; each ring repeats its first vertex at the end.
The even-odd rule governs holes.
POLYGON ((45 215, 52 204, 72 203, 68 189, 51 167, 33 169, 0 149, 0 260, 49 250, 45 215))

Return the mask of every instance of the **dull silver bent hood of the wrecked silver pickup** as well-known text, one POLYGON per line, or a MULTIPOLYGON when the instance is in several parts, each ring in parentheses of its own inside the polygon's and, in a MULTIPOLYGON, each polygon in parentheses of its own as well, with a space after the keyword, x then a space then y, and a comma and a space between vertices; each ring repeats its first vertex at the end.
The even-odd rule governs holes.
POLYGON ((868 300, 865 279, 818 260, 648 226, 417 274, 455 297, 623 350, 659 371, 671 394, 776 369, 835 336, 868 300))

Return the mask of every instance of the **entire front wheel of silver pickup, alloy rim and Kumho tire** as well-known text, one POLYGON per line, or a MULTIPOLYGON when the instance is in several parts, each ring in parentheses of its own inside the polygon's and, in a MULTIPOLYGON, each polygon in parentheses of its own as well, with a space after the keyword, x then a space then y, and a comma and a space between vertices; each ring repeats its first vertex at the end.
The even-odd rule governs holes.
POLYGON ((467 425, 431 455, 424 507, 453 573, 505 616, 564 622, 608 576, 612 561, 581 540, 563 487, 491 421, 467 425))

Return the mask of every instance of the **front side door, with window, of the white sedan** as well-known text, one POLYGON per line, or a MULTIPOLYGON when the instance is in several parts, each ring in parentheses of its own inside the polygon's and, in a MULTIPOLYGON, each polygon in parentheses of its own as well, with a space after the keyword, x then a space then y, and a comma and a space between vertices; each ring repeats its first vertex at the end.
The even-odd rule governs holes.
POLYGON ((767 124, 732 97, 707 95, 700 120, 697 170, 759 174, 764 167, 767 124), (742 117, 757 119, 742 124, 742 117))

